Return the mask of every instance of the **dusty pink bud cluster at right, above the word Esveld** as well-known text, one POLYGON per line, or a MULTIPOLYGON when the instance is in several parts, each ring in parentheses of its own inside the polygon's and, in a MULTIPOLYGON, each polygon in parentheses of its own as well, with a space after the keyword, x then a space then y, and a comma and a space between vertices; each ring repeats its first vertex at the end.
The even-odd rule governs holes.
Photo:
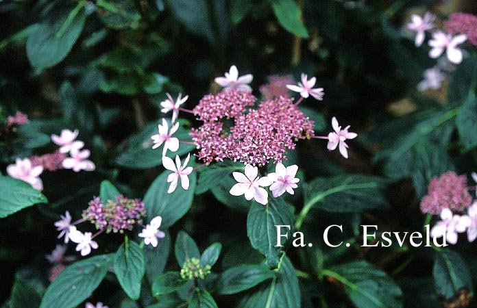
POLYGON ((423 213, 439 214, 443 209, 463 211, 472 204, 472 196, 467 191, 467 177, 449 171, 441 177, 433 177, 428 194, 422 198, 423 213))

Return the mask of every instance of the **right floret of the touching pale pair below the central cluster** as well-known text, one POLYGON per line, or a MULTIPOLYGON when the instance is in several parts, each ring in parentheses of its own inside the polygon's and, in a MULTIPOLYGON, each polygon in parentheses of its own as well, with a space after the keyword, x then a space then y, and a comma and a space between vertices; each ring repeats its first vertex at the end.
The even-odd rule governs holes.
POLYGON ((275 172, 270 173, 268 177, 273 181, 270 186, 271 195, 277 198, 288 192, 294 194, 293 188, 297 188, 299 179, 295 177, 298 171, 297 165, 285 167, 281 162, 275 166, 275 172))

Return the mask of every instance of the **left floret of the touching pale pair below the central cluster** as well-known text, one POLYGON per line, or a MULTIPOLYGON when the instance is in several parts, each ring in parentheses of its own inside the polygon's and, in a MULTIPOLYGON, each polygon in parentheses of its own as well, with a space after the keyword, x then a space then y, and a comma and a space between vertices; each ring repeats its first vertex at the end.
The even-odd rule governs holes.
POLYGON ((245 174, 233 172, 234 179, 238 182, 230 189, 233 196, 245 195, 247 200, 255 199, 258 203, 266 205, 268 202, 268 193, 262 187, 269 186, 273 179, 269 177, 258 177, 258 168, 252 165, 245 165, 245 174))

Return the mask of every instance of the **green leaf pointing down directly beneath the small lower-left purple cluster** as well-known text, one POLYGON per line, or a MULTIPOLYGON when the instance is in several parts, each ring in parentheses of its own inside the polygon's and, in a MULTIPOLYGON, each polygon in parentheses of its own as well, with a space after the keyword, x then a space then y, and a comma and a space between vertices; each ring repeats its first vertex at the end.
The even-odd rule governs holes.
POLYGON ((114 256, 112 268, 127 296, 137 300, 145 272, 144 254, 139 245, 126 238, 114 256))

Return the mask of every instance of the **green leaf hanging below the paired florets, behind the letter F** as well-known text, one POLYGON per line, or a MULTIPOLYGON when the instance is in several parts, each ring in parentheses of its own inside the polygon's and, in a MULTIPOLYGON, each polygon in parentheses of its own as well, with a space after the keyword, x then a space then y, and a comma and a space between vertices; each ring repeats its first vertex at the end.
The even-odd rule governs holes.
POLYGON ((247 216, 247 235, 252 247, 267 257, 269 266, 278 264, 285 245, 282 241, 282 247, 275 247, 278 224, 293 226, 293 216, 282 198, 269 198, 267 205, 252 203, 247 216))

